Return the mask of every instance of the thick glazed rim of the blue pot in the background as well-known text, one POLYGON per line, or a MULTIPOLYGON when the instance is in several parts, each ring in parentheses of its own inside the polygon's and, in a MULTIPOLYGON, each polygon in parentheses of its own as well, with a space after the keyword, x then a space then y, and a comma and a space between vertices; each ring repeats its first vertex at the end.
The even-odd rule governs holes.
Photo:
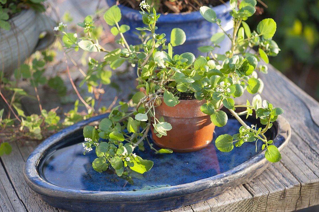
MULTIPOLYGON (((116 0, 106 0, 109 6, 112 6, 115 4, 116 0)), ((133 8, 119 5, 121 8, 122 15, 125 17, 129 17, 130 19, 133 19, 135 21, 142 21, 142 16, 139 13, 138 10, 135 10, 133 8)), ((231 11, 231 7, 229 4, 229 1, 225 4, 220 4, 218 6, 212 7, 212 9, 216 12, 217 17, 223 13, 231 11)), ((158 23, 179 23, 184 21, 199 21, 199 20, 205 20, 203 16, 200 14, 200 11, 194 11, 194 12, 182 12, 182 13, 168 13, 168 14, 161 14, 158 23)))

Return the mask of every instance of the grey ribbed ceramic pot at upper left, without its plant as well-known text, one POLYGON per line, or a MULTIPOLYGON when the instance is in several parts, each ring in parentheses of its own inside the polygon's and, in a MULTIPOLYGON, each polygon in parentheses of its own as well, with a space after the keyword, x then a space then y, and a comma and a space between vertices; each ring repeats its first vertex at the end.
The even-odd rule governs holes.
POLYGON ((56 26, 51 18, 33 10, 23 10, 9 22, 9 31, 0 29, 0 71, 4 71, 6 77, 32 53, 53 43, 56 26), (46 35, 40 39, 42 32, 46 35))

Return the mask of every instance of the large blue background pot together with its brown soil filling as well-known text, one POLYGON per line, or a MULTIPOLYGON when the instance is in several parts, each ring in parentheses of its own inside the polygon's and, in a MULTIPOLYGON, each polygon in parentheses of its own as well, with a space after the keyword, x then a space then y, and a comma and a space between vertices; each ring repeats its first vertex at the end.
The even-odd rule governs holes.
MULTIPOLYGON (((140 30, 139 27, 143 26, 142 16, 139 13, 139 4, 141 4, 141 2, 145 1, 107 0, 109 6, 117 4, 121 8, 123 17, 120 24, 130 26, 130 30, 126 33, 125 38, 127 42, 132 45, 138 44, 140 40, 139 37, 145 37, 145 32, 147 32, 143 31, 140 34, 140 31, 138 31, 140 30)), ((211 46, 211 43, 215 43, 219 36, 223 34, 220 27, 222 27, 226 33, 232 33, 233 22, 229 14, 231 8, 228 1, 225 1, 226 3, 222 0, 148 0, 146 2, 162 13, 161 18, 156 24, 157 33, 169 35, 176 27, 181 28, 185 32, 186 41, 182 46, 174 48, 176 54, 191 52, 196 57, 203 55, 205 52, 198 48, 201 46, 211 46), (219 23, 217 25, 205 21, 199 12, 199 8, 203 5, 213 7, 217 18, 221 20, 220 25, 219 23)), ((170 42, 170 38, 167 38, 167 41, 170 42)), ((221 43, 215 44, 221 47, 215 51, 219 54, 224 54, 230 48, 229 40, 223 40, 221 43)))

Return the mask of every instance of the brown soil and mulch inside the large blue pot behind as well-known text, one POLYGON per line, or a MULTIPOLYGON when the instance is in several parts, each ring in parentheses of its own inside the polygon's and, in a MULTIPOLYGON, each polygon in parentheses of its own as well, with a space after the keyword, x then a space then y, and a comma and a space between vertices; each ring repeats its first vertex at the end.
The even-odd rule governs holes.
MULTIPOLYGON (((135 10, 140 10, 139 4, 141 0, 118 0, 119 4, 125 5, 127 7, 133 8, 135 10)), ((181 13, 181 12, 193 12, 199 11, 201 6, 218 6, 219 4, 225 4, 223 0, 153 0, 147 1, 152 7, 155 7, 157 11, 162 14, 166 13, 181 13)))

